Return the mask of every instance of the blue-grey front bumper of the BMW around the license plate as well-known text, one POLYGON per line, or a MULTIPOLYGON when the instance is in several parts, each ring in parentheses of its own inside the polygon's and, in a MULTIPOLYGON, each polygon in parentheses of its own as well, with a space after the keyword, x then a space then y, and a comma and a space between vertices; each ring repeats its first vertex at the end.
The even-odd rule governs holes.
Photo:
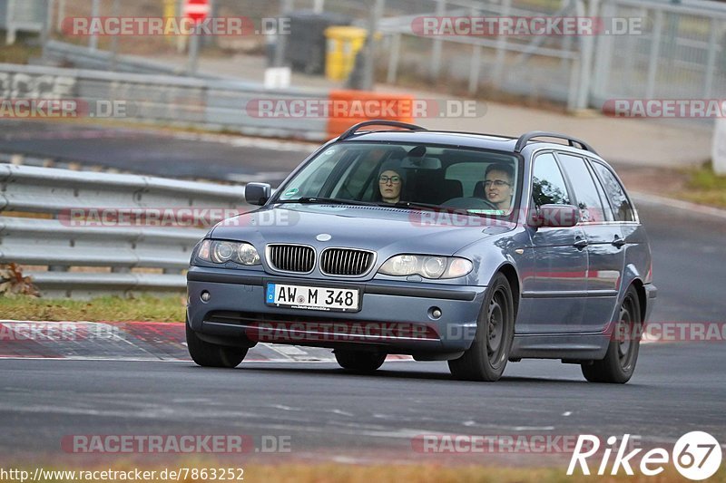
POLYGON ((192 266, 187 275, 191 329, 214 342, 375 347, 388 353, 458 353, 476 333, 486 287, 406 281, 352 282, 273 276, 192 266), (283 308, 265 303, 268 283, 358 288, 355 313, 283 308), (210 293, 203 302, 201 293, 210 293), (435 319, 432 308, 441 316, 435 319))

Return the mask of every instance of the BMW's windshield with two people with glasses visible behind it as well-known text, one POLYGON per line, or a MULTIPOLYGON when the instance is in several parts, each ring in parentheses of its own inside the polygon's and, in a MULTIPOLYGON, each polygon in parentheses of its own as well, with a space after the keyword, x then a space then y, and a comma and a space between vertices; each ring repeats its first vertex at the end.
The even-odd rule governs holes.
POLYGON ((273 201, 452 208, 505 216, 515 208, 518 167, 510 153, 346 142, 321 152, 273 201))

